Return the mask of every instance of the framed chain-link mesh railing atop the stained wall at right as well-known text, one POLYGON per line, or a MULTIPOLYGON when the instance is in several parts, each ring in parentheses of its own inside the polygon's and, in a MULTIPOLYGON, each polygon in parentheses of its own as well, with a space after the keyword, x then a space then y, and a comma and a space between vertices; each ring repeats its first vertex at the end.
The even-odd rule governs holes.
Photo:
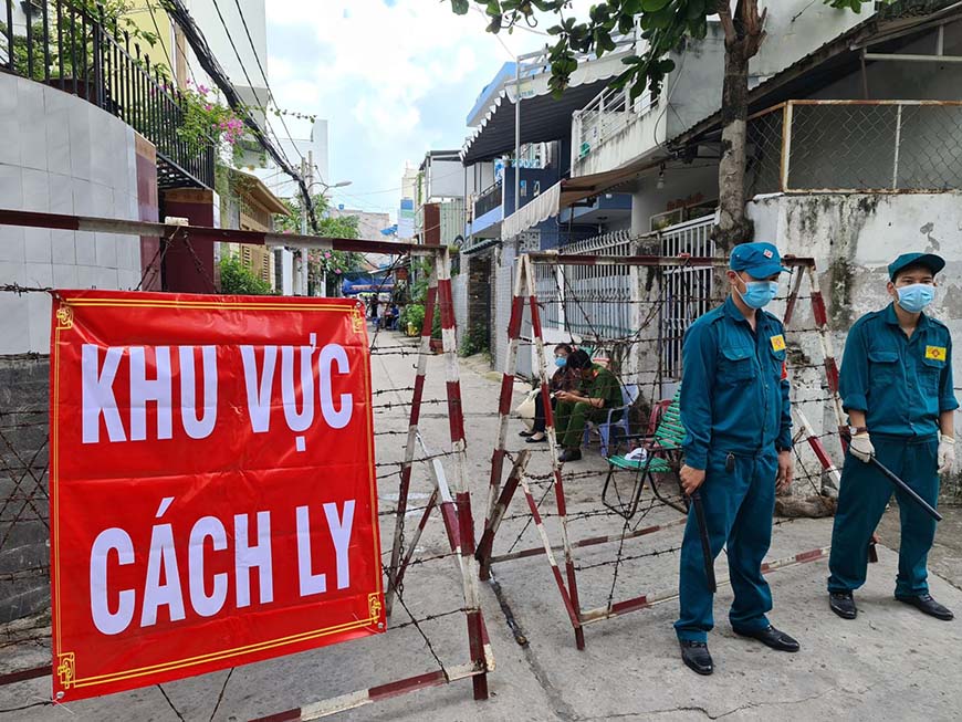
POLYGON ((749 119, 747 181, 771 192, 962 187, 962 102, 788 101, 749 119))

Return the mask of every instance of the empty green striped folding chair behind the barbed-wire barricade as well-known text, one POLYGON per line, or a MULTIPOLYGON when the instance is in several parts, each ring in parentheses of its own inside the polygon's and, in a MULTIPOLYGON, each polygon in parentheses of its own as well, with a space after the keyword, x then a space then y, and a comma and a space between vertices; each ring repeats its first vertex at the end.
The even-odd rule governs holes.
POLYGON ((688 511, 684 505, 666 499, 658 490, 658 484, 655 483, 652 478, 652 474, 672 474, 679 481, 679 489, 681 488, 678 472, 681 469, 681 443, 684 440, 684 426, 681 423, 681 410, 679 408, 680 394, 681 389, 675 394, 671 402, 665 408, 661 418, 657 421, 653 435, 623 437, 625 440, 637 439, 640 441, 637 446, 648 451, 644 460, 627 459, 625 454, 619 453, 608 457, 608 475, 602 490, 602 503, 625 519, 631 519, 638 511, 641 491, 645 489, 646 481, 649 482, 652 493, 659 501, 681 512, 688 511), (608 489, 611 486, 611 481, 618 471, 635 472, 635 486, 627 504, 621 503, 620 499, 617 503, 608 501, 608 489))

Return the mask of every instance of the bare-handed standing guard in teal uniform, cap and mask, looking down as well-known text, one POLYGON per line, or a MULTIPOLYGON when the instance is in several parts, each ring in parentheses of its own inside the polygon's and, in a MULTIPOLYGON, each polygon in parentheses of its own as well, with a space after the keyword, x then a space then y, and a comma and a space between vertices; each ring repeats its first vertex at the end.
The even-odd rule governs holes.
MULTIPOLYGON (((728 544, 739 635, 781 651, 798 642, 765 617, 772 593, 762 561, 772 541, 775 489, 792 482, 792 417, 782 322, 762 311, 778 290, 782 268, 771 243, 736 245, 728 272, 731 295, 684 335, 680 410, 686 428, 681 484, 704 506, 712 559, 728 544)), ((688 515, 681 546, 680 615, 675 630, 681 658, 711 674, 708 632, 713 595, 704 572, 697 515, 688 515)))

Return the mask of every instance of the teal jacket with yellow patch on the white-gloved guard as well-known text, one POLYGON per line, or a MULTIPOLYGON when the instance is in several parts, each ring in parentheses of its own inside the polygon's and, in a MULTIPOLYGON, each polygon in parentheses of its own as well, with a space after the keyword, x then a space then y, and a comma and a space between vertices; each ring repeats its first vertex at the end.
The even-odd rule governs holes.
POLYGON ((869 433, 932 437, 939 414, 959 408, 949 328, 922 314, 907 338, 892 304, 851 326, 838 381, 845 410, 864 411, 869 433))

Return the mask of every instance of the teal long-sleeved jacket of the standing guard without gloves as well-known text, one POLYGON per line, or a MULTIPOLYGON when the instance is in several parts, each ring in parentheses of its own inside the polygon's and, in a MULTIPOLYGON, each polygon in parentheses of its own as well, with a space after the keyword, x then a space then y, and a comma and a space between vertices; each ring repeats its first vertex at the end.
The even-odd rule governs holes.
POLYGON ((689 327, 680 398, 688 465, 704 469, 710 448, 743 456, 792 448, 784 333, 766 311, 752 332, 731 296, 689 327))

